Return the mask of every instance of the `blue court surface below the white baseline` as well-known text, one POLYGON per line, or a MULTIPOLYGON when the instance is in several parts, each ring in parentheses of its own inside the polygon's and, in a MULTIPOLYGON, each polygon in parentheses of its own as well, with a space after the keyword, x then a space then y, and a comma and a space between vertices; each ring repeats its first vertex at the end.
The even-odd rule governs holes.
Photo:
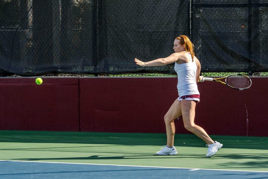
POLYGON ((0 178, 268 178, 268 172, 0 161, 0 178))

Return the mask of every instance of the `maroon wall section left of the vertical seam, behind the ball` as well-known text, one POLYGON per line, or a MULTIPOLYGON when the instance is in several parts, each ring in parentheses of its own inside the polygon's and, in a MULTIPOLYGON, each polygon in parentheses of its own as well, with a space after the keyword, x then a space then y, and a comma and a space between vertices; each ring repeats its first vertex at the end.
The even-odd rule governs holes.
POLYGON ((78 131, 78 78, 0 78, 0 130, 78 131))

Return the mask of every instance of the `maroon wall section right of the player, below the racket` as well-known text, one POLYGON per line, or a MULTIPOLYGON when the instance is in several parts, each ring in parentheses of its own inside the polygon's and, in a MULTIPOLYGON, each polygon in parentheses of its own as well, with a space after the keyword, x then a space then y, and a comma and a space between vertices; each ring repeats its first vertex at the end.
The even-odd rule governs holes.
POLYGON ((214 81, 199 84, 202 103, 197 123, 217 135, 268 136, 266 81, 252 77, 247 90, 235 90, 214 81))

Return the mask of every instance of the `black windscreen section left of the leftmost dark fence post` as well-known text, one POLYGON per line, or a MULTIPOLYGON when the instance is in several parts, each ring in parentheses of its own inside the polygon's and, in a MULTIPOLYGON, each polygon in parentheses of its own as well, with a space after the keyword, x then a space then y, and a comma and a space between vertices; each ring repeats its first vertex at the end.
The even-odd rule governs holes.
POLYGON ((80 73, 92 65, 91 1, 0 2, 2 71, 80 73))

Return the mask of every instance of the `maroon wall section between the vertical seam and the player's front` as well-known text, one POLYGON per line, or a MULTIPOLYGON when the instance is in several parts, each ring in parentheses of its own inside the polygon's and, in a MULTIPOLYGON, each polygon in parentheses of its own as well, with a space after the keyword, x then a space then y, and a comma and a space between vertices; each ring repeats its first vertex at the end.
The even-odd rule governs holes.
POLYGON ((81 78, 81 131, 165 132, 176 78, 81 78))

